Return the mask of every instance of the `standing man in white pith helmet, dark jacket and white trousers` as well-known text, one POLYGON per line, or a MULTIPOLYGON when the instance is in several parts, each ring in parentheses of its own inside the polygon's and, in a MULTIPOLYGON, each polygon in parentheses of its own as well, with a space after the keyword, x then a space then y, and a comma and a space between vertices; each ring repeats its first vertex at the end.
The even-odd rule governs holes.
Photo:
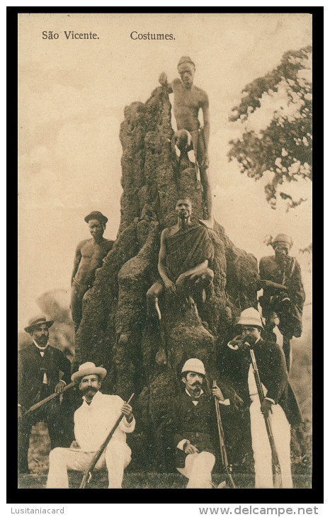
POLYGON ((239 396, 249 405, 256 488, 273 488, 271 445, 263 414, 271 420, 278 453, 283 488, 292 488, 290 462, 290 424, 301 423, 301 414, 292 388, 280 346, 263 341, 263 324, 253 307, 241 312, 238 321, 241 335, 222 348, 220 372, 233 382, 239 396), (265 398, 258 397, 250 347, 253 347, 265 398))

